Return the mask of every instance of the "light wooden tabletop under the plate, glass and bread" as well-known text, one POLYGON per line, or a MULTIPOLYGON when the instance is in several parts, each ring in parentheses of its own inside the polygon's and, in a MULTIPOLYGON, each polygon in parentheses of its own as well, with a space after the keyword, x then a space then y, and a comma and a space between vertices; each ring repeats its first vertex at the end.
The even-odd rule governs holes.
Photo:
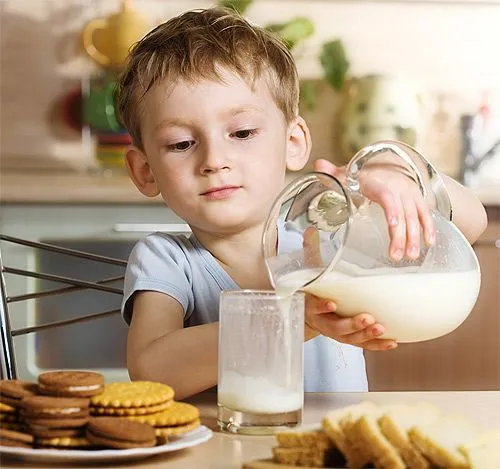
MULTIPOLYGON (((166 453, 141 461, 123 464, 123 467, 165 468, 165 469, 236 469, 254 459, 265 459, 271 455, 274 445, 272 436, 238 436, 217 431, 215 394, 200 395, 190 402, 196 404, 202 414, 202 422, 214 430, 213 437, 206 443, 194 448, 166 453)), ((305 398, 304 423, 317 423, 326 411, 362 400, 378 404, 411 403, 427 401, 439 406, 445 413, 461 413, 475 421, 482 428, 500 428, 500 391, 473 392, 383 392, 383 393, 307 393, 305 398)), ((27 462, 2 458, 4 469, 47 468, 27 462)), ((75 467, 74 465, 58 467, 75 467)), ((109 469, 114 465, 92 465, 109 469)))

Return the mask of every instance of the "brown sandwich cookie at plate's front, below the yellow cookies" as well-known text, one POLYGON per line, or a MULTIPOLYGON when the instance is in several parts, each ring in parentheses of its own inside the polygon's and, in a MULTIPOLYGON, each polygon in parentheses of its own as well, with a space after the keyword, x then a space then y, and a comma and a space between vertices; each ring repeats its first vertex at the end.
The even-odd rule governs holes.
POLYGON ((86 429, 87 439, 108 448, 149 448, 156 445, 155 430, 148 424, 119 417, 95 417, 86 429))

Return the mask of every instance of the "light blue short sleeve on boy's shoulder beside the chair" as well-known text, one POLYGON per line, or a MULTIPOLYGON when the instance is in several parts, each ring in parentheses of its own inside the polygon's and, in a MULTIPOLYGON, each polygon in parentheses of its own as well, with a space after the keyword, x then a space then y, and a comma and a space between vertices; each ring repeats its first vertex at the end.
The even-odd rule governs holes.
POLYGON ((140 240, 130 253, 125 272, 122 315, 132 319, 134 293, 156 291, 176 299, 186 312, 193 309, 192 274, 181 243, 173 236, 154 233, 140 240))

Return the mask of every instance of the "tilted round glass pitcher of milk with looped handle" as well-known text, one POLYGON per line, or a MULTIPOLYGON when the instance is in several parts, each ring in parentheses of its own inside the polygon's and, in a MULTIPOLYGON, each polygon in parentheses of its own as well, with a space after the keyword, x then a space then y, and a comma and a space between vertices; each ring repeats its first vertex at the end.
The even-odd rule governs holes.
POLYGON ((467 318, 479 294, 479 263, 451 222, 443 180, 401 143, 362 148, 346 168, 345 184, 319 172, 294 180, 275 201, 262 244, 280 294, 301 290, 335 301, 339 315, 372 314, 385 328, 382 337, 397 342, 448 334, 467 318), (384 211, 360 192, 363 166, 388 155, 417 184, 435 224, 435 242, 426 245, 421 235, 415 259, 390 257, 384 211))

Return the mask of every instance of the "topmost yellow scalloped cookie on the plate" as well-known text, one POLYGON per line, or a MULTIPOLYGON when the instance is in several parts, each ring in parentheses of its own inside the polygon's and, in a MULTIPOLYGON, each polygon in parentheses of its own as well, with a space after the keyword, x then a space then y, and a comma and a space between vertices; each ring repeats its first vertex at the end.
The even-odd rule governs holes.
POLYGON ((153 381, 132 381, 110 383, 104 391, 90 398, 93 407, 146 407, 169 402, 174 397, 174 390, 162 383, 153 381))

